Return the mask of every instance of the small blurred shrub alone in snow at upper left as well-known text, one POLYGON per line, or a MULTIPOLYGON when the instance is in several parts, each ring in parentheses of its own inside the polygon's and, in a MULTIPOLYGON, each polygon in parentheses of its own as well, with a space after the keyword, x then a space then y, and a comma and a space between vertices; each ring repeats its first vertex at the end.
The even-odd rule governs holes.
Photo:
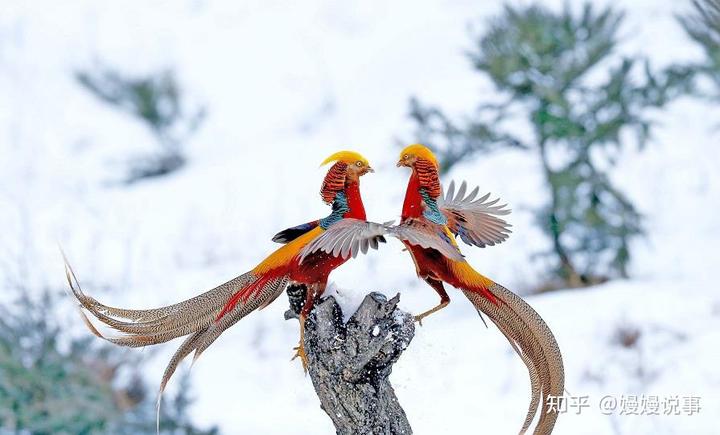
POLYGON ((183 143, 205 118, 205 109, 185 101, 172 71, 145 77, 125 77, 105 66, 79 71, 78 82, 101 101, 141 120, 153 133, 160 152, 135 160, 128 183, 158 177, 185 164, 183 143))

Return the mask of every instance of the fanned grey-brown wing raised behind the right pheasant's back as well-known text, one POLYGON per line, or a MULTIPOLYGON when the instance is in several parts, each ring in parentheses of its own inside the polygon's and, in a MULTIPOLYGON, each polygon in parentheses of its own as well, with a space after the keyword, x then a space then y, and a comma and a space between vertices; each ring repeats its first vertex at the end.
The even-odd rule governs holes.
POLYGON ((502 243, 510 237, 510 225, 498 216, 510 214, 507 204, 495 205, 500 198, 490 200, 490 193, 475 199, 479 187, 467 196, 467 183, 460 184, 455 193, 455 182, 451 181, 447 194, 438 198, 440 211, 447 217, 447 226, 468 245, 484 248, 502 243))

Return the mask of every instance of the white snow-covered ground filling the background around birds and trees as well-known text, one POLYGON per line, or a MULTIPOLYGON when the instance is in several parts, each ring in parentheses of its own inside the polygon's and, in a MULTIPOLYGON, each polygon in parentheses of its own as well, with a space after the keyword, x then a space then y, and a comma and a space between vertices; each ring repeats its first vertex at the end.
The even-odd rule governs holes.
MULTIPOLYGON (((463 56, 468 23, 500 9, 484 3, 3 2, 0 278, 61 288, 59 241, 84 288, 107 302, 187 298, 254 266, 274 249, 276 231, 324 216, 317 165, 342 148, 361 151, 378 170, 362 180, 368 218, 396 218, 407 177, 394 167, 396 139, 411 137, 409 96, 463 113, 491 95, 463 56), (207 105, 186 169, 132 187, 115 182, 124 159, 155 145, 143 126, 75 82, 73 71, 96 59, 130 72, 173 66, 207 105), (95 290, 106 285, 113 290, 95 290)), ((625 3, 623 51, 657 65, 698 54, 673 21, 679 2, 625 3)), ((650 148, 629 151, 614 173, 646 216, 632 280, 528 298, 555 331, 567 390, 591 404, 561 416, 556 433, 716 433, 718 115, 717 107, 676 102, 657 114, 650 148), (623 346, 619 334, 637 340, 623 346), (623 394, 699 396, 701 410, 600 412, 603 396, 623 394)), ((451 175, 514 209, 510 240, 466 249, 470 262, 510 288, 532 287, 542 271, 533 254, 547 243, 532 225, 542 192, 536 163, 505 152, 451 175)), ((401 292, 410 311, 435 304, 400 245, 383 248, 332 275, 341 299, 382 290, 401 292)), ((420 435, 515 433, 529 398, 525 369, 494 327, 486 330, 459 293, 451 297, 396 365, 401 403, 420 435)), ((198 421, 229 434, 332 433, 309 378, 289 362, 297 325, 281 320, 285 308, 280 299, 203 354, 193 368, 198 421)), ((152 358, 151 379, 173 347, 152 358)))

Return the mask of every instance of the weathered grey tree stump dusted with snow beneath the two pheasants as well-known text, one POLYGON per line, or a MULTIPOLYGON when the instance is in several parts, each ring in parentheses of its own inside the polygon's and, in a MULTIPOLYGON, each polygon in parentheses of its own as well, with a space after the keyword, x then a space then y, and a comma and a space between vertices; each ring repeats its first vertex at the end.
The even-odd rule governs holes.
MULTIPOLYGON (((297 318, 304 287, 288 288, 291 309, 285 318, 297 318)), ((333 297, 320 300, 305 325, 308 371, 340 435, 412 434, 388 377, 392 365, 415 335, 412 315, 397 308, 400 295, 388 300, 370 293, 355 314, 343 323, 333 297)))

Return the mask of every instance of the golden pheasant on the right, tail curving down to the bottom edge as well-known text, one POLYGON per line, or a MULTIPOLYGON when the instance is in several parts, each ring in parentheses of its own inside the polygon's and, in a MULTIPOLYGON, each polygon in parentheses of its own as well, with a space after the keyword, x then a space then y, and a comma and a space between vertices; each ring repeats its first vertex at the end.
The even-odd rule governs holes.
POLYGON ((310 242, 301 258, 325 252, 341 258, 358 254, 356 247, 379 235, 402 241, 415 263, 417 275, 439 295, 440 304, 416 316, 416 320, 442 309, 450 302, 443 283, 461 290, 500 329, 525 363, 530 375, 531 401, 520 430, 527 432, 535 414, 540 416, 535 435, 550 434, 558 414, 545 409, 549 396, 561 397, 565 373, 557 341, 540 315, 515 293, 477 272, 463 257, 456 238, 466 244, 485 247, 501 243, 509 235, 509 224, 499 216, 510 213, 490 194, 476 199, 478 188, 466 195, 462 183, 454 183, 442 195, 438 162, 427 147, 410 145, 402 150, 399 167, 412 169, 399 225, 345 219, 310 242))

